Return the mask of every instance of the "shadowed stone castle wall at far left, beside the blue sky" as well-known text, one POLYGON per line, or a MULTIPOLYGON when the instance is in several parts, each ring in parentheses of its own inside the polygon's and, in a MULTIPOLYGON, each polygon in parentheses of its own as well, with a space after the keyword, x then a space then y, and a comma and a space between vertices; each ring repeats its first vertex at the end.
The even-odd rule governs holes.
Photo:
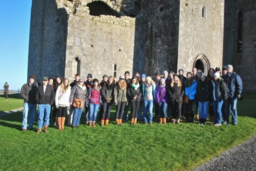
POLYGON ((52 0, 33 0, 28 52, 28 77, 64 77, 67 14, 52 0))

